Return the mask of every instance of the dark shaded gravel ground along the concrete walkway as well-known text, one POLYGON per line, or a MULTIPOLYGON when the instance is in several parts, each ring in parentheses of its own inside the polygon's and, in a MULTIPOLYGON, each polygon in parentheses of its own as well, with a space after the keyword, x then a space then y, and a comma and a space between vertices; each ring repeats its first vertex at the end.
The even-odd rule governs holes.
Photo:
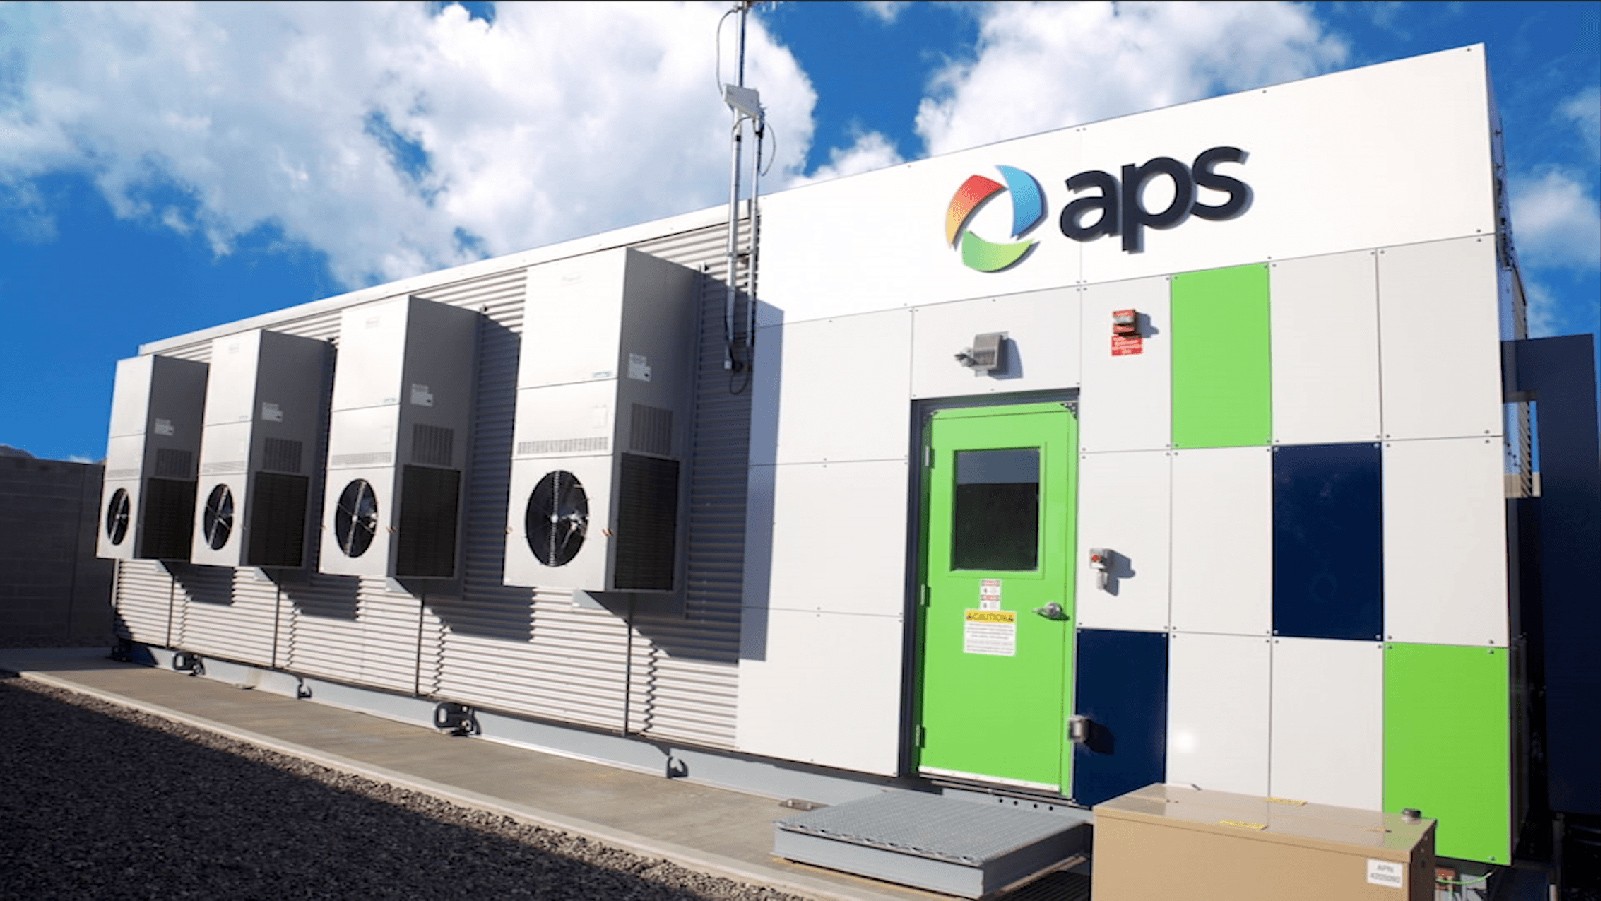
POLYGON ((800 901, 0 674, 0 899, 800 901))

